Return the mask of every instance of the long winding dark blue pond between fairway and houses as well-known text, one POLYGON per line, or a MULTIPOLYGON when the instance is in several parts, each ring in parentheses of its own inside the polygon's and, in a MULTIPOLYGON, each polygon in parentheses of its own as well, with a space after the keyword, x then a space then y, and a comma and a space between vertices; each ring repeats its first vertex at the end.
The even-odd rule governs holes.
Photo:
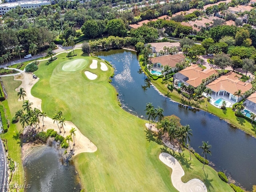
POLYGON ((140 117, 145 117, 146 103, 152 102, 154 107, 164 109, 164 115, 176 115, 181 124, 189 124, 193 136, 190 145, 198 152, 202 141, 212 145, 212 156, 208 159, 215 164, 215 169, 225 171, 247 190, 256 184, 256 139, 241 130, 233 128, 208 112, 194 110, 170 101, 158 91, 144 82, 144 74, 140 68, 135 52, 127 50, 110 50, 98 52, 96 56, 108 60, 115 68, 112 84, 119 93, 124 110, 140 117))

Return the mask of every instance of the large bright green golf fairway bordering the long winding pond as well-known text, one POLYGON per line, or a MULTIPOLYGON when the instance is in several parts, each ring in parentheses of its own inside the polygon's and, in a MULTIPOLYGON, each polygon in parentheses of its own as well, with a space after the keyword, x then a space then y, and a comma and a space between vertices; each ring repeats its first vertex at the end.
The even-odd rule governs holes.
MULTIPOLYGON (((118 106, 116 90, 108 83, 114 72, 112 68, 103 72, 98 62, 97 69, 90 69, 90 57, 85 59, 82 70, 64 71, 62 66, 69 61, 66 54, 46 65, 40 62, 34 72, 40 78, 32 88, 32 94, 42 99, 42 109, 52 116, 62 110, 64 118, 76 124, 98 150, 95 153, 82 153, 74 157, 74 163, 82 186, 86 191, 176 191, 170 180, 172 170, 158 158, 164 146, 156 143, 151 134, 147 134, 145 120, 137 118, 118 106), (96 80, 88 80, 84 71, 98 75, 96 80)), ((218 178, 217 173, 192 156, 187 162, 188 151, 176 154, 185 170, 182 178, 202 179, 208 191, 232 191, 218 178)))

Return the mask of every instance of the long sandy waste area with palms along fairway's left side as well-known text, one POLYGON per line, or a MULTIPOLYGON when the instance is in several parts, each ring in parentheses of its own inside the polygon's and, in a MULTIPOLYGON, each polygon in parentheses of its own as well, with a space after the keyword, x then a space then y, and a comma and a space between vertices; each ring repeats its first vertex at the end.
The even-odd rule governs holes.
MULTIPOLYGON (((29 100, 30 102, 32 102, 33 103, 32 108, 38 108, 38 109, 42 110, 42 108, 41 108, 42 100, 32 96, 32 94, 31 94, 31 88, 32 88, 32 86, 34 86, 34 84, 36 84, 36 82, 38 82, 39 78, 34 79, 34 78, 32 78, 32 74, 23 72, 22 74, 14 76, 14 80, 20 80, 22 82, 22 84, 18 88, 16 88, 16 91, 18 92, 20 87, 24 88, 24 90, 26 91, 26 95, 27 95, 24 98, 24 100, 29 100)), ((74 155, 77 155, 77 154, 80 154, 83 152, 95 152, 97 150, 97 147, 87 137, 85 137, 72 122, 66 121, 65 124, 66 125, 64 126, 64 129, 65 129, 66 133, 64 133, 63 129, 62 129, 62 133, 61 133, 61 135, 64 137, 66 137, 67 135, 70 134, 70 130, 72 127, 74 127, 76 129, 76 132, 75 132, 76 146, 74 148, 75 149, 74 155)), ((57 132, 59 132, 57 124, 56 123, 54 124, 53 120, 49 117, 44 118, 44 127, 43 127, 43 123, 41 120, 40 130, 42 128, 44 131, 46 131, 47 129, 54 129, 57 132)))

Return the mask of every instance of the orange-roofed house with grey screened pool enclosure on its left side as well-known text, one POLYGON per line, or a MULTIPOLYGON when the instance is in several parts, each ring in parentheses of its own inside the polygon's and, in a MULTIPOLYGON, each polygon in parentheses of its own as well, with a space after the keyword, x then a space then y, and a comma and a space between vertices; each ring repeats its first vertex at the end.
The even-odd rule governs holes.
POLYGON ((200 68, 197 64, 194 64, 174 74, 174 87, 180 88, 180 84, 184 83, 186 86, 191 85, 196 88, 202 83, 202 81, 204 84, 210 82, 210 76, 212 76, 212 80, 215 79, 217 74, 218 72, 215 69, 203 71, 203 69, 200 68), (204 81, 206 79, 208 81, 204 81))

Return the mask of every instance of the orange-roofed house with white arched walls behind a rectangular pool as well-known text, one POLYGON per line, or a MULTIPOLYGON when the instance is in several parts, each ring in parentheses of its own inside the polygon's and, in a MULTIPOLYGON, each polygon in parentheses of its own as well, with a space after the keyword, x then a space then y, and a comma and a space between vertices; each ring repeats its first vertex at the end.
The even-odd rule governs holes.
POLYGON ((242 82, 240 78, 242 75, 236 74, 232 71, 217 78, 213 82, 206 85, 207 88, 212 90, 212 97, 222 96, 231 103, 236 103, 242 99, 242 96, 235 95, 238 90, 241 90, 241 94, 250 90, 252 84, 248 82, 242 82))

